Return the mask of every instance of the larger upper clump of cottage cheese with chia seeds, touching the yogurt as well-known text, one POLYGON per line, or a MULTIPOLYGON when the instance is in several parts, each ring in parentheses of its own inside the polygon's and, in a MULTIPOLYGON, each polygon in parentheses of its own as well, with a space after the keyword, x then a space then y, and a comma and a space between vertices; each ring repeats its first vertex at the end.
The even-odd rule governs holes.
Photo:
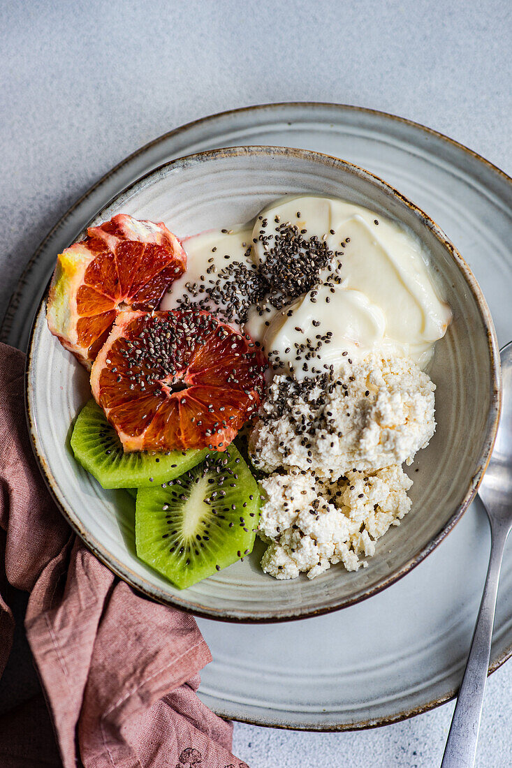
POLYGON ((410 359, 341 362, 323 377, 274 376, 249 440, 254 465, 336 480, 411 463, 435 431, 435 385, 410 359))

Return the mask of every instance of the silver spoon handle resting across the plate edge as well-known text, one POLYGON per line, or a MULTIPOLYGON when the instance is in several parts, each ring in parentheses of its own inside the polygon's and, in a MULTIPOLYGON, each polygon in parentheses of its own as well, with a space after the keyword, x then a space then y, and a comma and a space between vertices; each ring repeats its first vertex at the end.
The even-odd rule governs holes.
POLYGON ((485 683, 489 669, 490 644, 493 637, 494 611, 501 561, 508 528, 496 526, 492 531, 489 568, 484 594, 474 628, 466 670, 460 684, 457 706, 451 720, 441 768, 473 768, 477 752, 480 717, 484 704, 485 683))

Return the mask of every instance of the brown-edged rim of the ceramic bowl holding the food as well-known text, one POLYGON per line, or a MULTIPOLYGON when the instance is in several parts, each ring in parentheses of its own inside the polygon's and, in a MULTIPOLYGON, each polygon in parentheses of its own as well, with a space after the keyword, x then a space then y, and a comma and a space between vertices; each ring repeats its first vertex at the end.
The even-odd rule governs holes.
MULTIPOLYGON (((372 174, 370 171, 358 165, 344 161, 339 157, 334 157, 333 155, 321 153, 318 151, 298 149, 296 147, 273 147, 258 145, 221 147, 218 149, 207 150, 194 154, 184 155, 182 157, 177 157, 171 161, 168 161, 167 163, 161 164, 158 167, 149 170, 147 173, 141 175, 133 182, 131 182, 131 184, 128 184, 128 186, 121 190, 118 194, 115 194, 114 197, 111 197, 111 199, 108 200, 108 202, 96 212, 94 217, 92 217, 91 220, 85 224, 84 229, 81 230, 81 233, 76 239, 81 237, 81 234, 85 232, 88 226, 90 226, 92 220, 100 217, 103 211, 108 210, 108 208, 111 207, 111 205, 116 200, 122 200, 124 197, 127 197, 128 194, 134 190, 134 188, 143 186, 145 180, 147 180, 149 177, 158 176, 163 170, 185 170, 187 167, 190 167, 191 164, 201 164, 205 161, 223 159, 225 157, 258 155, 261 157, 271 157, 275 154, 281 156, 298 157, 301 160, 314 161, 328 167, 343 168, 349 174, 370 181, 374 187, 380 188, 389 197, 398 200, 400 204, 403 204, 405 207, 411 210, 417 220, 419 220, 421 224, 431 230, 431 233, 434 234, 434 237, 436 237, 444 249, 448 251, 450 257, 456 263, 456 266, 462 273, 464 280, 467 283, 470 293, 474 297, 474 300, 477 304, 477 309, 480 313, 480 319, 482 319, 484 325, 487 339, 487 351, 490 357, 490 406, 489 412, 487 414, 485 438, 477 458, 477 470, 474 472, 472 478, 470 478, 469 485, 465 489, 464 495, 460 497, 460 502, 457 504, 457 508, 455 509, 454 514, 451 515, 450 519, 445 525, 441 526, 439 531, 437 531, 437 534, 431 538, 427 545, 424 545, 424 547, 418 549, 411 556, 411 558, 409 558, 409 560, 401 566, 401 568, 399 568, 397 571, 394 571, 392 574, 381 578, 379 581, 377 581, 376 584, 371 586, 371 588, 358 591, 357 593, 347 598, 343 598, 340 601, 337 601, 332 606, 306 610, 296 609, 294 611, 280 611, 279 614, 261 615, 251 614, 250 612, 241 614, 240 611, 234 609, 216 610, 212 609, 211 607, 206 607, 198 603, 187 601, 185 599, 181 600, 176 596, 165 593, 163 589, 158 588, 154 584, 151 584, 146 578, 136 574, 135 571, 132 571, 131 568, 128 567, 128 565, 115 558, 108 552, 108 549, 105 548, 105 546, 101 545, 101 542, 98 541, 95 536, 91 535, 91 533, 85 529, 85 527, 81 524, 78 515, 75 514, 75 511, 71 508, 71 506, 66 505, 65 499, 60 492, 58 482, 52 474, 45 455, 40 448, 38 442, 37 422, 35 420, 35 415, 32 412, 32 390, 30 382, 32 372, 32 359, 35 352, 35 330, 38 328, 40 319, 44 320, 49 282, 39 303, 38 309, 35 312, 30 336, 28 339, 28 354, 25 362, 25 414, 28 424, 28 431, 31 437, 32 449, 48 490, 52 495, 52 498, 62 512, 65 520, 68 521, 68 524, 78 534, 81 540, 84 541, 85 545, 103 564, 107 566, 107 568, 113 571, 119 578, 123 579, 123 581, 126 581, 132 588, 135 588, 137 591, 145 594, 145 596, 148 598, 151 598, 152 600, 155 600, 161 604, 171 605, 172 607, 176 607, 181 611, 194 614, 195 616, 242 624, 274 624, 281 621, 297 621, 308 617, 328 614, 333 611, 339 611, 344 607, 349 607, 350 605, 357 604, 358 602, 366 600, 367 598, 371 598, 374 594, 378 594, 379 592, 383 591, 387 587, 391 586, 391 584, 394 584, 396 581, 404 578, 404 576, 413 568, 416 568, 416 566, 419 565, 421 561, 427 557, 428 554, 431 554, 431 552, 441 544, 441 541, 443 541, 443 539, 450 533, 450 531, 454 529, 455 525, 457 525, 457 522, 460 520, 462 515, 464 515, 464 512, 473 501, 473 498, 477 493, 478 486, 480 485, 480 482, 487 469, 487 465, 490 461, 490 455, 492 454, 497 435, 497 426, 499 423, 501 406, 500 353, 497 345, 497 336, 494 329, 494 323, 490 315, 490 310, 484 298, 484 294, 482 293, 474 274, 470 270, 470 267, 467 265, 464 258, 460 255, 459 251, 454 247, 453 243, 448 240, 443 230, 441 230, 441 227, 439 227, 437 223, 431 219, 431 217, 425 214, 420 207, 418 207, 411 200, 401 194, 401 192, 396 188, 392 187, 391 184, 387 184, 387 182, 381 179, 381 177, 378 177, 376 174, 372 174), (42 313, 44 313, 43 317, 42 313)), ((186 590, 183 591, 183 594, 186 594, 186 590)))

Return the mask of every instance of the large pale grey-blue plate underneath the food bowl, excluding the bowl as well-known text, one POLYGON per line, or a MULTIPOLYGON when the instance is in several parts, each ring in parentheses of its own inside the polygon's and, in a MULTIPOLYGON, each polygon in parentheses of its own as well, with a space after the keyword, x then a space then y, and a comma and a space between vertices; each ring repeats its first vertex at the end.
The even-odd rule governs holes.
MULTIPOLYGON (((208 118, 145 147, 114 170, 38 250, 3 339, 25 346, 55 253, 135 177, 182 154, 234 144, 304 147, 384 177, 439 223, 470 263, 500 344, 512 338, 512 183, 439 134, 389 115, 322 104, 271 105, 208 118)), ((450 698, 460 682, 490 536, 478 502, 437 551, 374 598, 325 617, 241 626, 201 620, 214 662, 200 694, 225 717, 310 729, 392 722, 450 698)), ((492 668, 512 652, 512 551, 505 553, 492 668)))

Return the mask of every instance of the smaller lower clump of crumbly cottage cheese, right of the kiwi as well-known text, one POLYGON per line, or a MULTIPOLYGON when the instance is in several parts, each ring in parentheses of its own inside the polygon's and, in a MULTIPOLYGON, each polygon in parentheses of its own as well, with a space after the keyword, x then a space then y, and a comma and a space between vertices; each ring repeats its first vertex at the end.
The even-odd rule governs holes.
POLYGON ((400 525, 411 508, 412 481, 401 466, 347 472, 334 483, 314 472, 274 473, 261 480, 264 503, 259 535, 269 542, 261 560, 278 579, 306 572, 314 578, 342 563, 356 571, 375 551, 390 525, 400 525))

